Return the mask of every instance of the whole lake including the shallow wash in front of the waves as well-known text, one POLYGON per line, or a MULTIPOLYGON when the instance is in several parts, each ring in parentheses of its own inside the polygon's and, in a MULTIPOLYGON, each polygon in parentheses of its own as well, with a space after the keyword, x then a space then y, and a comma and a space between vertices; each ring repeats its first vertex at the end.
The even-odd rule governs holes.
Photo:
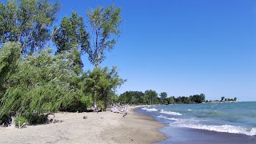
POLYGON ((256 102, 148 106, 138 109, 138 112, 166 123, 168 127, 162 131, 167 137, 174 137, 174 135, 178 137, 180 134, 177 134, 177 131, 179 131, 186 134, 188 141, 193 140, 195 143, 198 143, 196 142, 198 140, 202 140, 202 143, 209 139, 214 140, 216 137, 226 142, 236 138, 235 142, 246 140, 249 143, 256 143, 256 102), (198 130, 201 130, 199 135, 198 130), (202 131, 205 138, 201 138, 202 131), (191 135, 194 136, 190 138, 191 135), (197 138, 197 136, 200 137, 197 138))

